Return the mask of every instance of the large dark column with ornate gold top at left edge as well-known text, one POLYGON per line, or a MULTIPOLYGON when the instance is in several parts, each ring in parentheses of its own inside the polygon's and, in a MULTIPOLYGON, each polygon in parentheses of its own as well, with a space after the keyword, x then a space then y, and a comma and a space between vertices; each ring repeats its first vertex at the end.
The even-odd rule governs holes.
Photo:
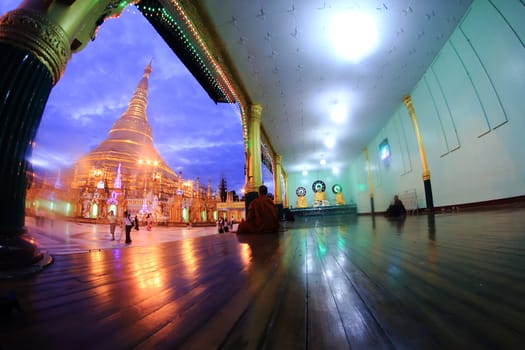
POLYGON ((124 8, 108 7, 110 2, 26 0, 0 18, 0 270, 42 264, 44 256, 25 236, 28 159, 71 53, 94 38, 104 18, 124 8))

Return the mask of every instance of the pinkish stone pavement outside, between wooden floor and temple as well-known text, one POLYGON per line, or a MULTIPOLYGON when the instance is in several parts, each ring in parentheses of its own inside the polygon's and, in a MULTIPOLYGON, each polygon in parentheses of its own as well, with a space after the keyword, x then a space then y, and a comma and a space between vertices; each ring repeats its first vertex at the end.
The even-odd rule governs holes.
POLYGON ((215 235, 216 226, 208 227, 166 227, 154 226, 151 231, 140 227, 131 231, 131 244, 125 244, 125 234, 117 226, 115 240, 111 240, 109 224, 77 223, 47 220, 37 227, 33 217, 26 217, 29 235, 35 239, 38 248, 51 255, 85 253, 93 250, 149 246, 188 238, 215 235))

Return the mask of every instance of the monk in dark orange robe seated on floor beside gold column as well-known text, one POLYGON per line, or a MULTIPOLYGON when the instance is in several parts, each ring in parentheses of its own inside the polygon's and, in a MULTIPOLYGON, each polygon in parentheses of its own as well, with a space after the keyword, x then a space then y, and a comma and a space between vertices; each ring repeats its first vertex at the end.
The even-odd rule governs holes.
POLYGON ((246 221, 242 221, 237 233, 273 233, 279 229, 279 215, 277 207, 268 198, 268 188, 259 187, 259 197, 248 206, 246 221))

